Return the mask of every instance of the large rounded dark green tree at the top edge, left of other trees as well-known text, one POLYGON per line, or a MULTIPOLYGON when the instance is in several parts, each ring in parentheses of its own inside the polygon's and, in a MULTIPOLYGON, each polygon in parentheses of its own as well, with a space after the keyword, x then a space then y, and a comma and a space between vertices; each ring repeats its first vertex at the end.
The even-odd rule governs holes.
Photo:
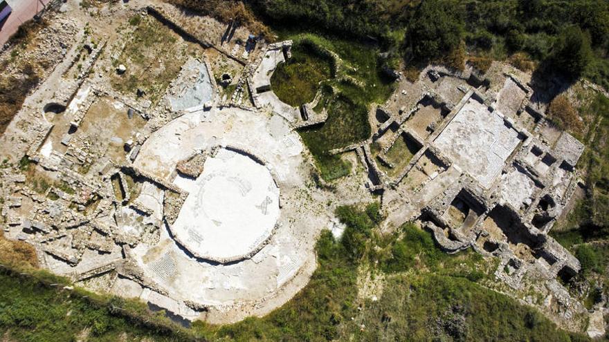
POLYGON ((417 61, 444 57, 459 47, 463 27, 453 1, 424 0, 406 32, 406 44, 417 61))

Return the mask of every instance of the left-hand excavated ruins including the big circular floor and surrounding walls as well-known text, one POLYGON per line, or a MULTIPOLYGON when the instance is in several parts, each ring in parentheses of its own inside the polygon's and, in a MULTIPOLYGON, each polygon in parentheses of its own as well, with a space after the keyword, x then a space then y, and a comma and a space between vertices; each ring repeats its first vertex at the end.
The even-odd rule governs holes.
POLYGON ((291 41, 218 44, 193 24, 201 18, 173 6, 135 12, 206 53, 189 57, 153 102, 139 88, 116 91, 104 76, 113 68, 102 51, 117 59, 125 43, 67 50, 57 77, 32 95, 39 104, 19 112, 3 137, 24 164, 0 169, 4 236, 32 244, 42 267, 77 285, 183 319, 266 314, 307 283, 314 241, 331 219, 300 195, 311 164, 294 131, 327 114, 315 113, 315 103, 291 108, 269 91, 291 41), (208 58, 218 53, 242 68, 230 99, 220 98, 208 58), (269 64, 264 56, 276 53, 269 64))

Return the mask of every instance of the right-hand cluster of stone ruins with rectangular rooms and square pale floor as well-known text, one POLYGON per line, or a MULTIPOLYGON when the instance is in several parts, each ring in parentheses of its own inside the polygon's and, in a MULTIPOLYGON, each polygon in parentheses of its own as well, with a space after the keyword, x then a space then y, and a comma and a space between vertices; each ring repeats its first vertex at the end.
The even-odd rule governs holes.
POLYGON ((496 276, 514 289, 527 272, 541 274, 568 302, 556 278, 574 276, 579 260, 548 232, 581 186, 575 167, 583 144, 529 106, 533 91, 516 75, 500 75, 505 85, 493 93, 475 75, 425 71, 410 107, 397 109, 394 95, 376 108, 370 140, 332 152, 356 151, 389 220, 419 220, 448 253, 498 256, 496 276), (400 142, 407 162, 390 160, 400 142))

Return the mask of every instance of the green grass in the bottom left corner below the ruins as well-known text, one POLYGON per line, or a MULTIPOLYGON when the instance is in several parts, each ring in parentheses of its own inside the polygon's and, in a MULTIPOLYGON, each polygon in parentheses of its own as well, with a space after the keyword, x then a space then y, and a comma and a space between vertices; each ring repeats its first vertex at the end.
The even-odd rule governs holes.
MULTIPOLYGON (((59 288, 64 283, 42 272, 33 277, 0 272, 0 332, 7 341, 77 341, 84 331, 89 332, 87 341, 119 341, 123 335, 125 341, 192 340, 177 330, 155 330, 116 314, 110 303, 93 299, 100 296, 79 290, 59 291, 43 285, 37 277, 46 283, 60 283, 59 288)), ((111 304, 125 306, 118 298, 111 304)), ((142 306, 136 304, 138 308, 131 310, 142 310, 142 306)))

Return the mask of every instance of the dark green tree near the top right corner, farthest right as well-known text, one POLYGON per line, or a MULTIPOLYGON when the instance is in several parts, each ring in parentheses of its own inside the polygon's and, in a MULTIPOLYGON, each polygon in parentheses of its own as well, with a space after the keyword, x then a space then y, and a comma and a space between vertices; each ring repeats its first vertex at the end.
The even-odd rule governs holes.
POLYGON ((552 64, 574 79, 583 74, 592 61, 590 35, 578 26, 565 28, 552 49, 552 64))

